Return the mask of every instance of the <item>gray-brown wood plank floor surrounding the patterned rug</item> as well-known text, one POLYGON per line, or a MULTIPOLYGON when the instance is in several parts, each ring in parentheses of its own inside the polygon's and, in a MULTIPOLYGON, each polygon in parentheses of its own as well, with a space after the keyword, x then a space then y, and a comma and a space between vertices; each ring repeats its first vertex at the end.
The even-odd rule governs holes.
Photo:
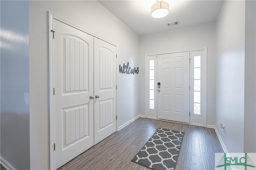
POLYGON ((148 170, 131 160, 158 127, 185 132, 176 170, 213 170, 224 152, 214 129, 140 117, 59 170, 148 170))

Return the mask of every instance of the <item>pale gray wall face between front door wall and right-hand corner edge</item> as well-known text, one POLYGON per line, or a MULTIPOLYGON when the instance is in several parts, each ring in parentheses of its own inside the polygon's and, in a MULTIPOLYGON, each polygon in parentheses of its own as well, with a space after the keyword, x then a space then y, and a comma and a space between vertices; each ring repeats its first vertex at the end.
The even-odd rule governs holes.
POLYGON ((245 1, 224 1, 216 21, 216 127, 228 152, 244 152, 245 1))

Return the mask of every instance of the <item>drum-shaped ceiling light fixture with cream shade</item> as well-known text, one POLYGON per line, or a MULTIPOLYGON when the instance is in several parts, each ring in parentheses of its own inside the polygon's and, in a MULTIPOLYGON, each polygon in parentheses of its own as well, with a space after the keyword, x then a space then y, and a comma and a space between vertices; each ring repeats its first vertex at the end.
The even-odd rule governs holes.
POLYGON ((169 14, 169 4, 160 0, 151 6, 151 16, 153 18, 163 18, 169 14))

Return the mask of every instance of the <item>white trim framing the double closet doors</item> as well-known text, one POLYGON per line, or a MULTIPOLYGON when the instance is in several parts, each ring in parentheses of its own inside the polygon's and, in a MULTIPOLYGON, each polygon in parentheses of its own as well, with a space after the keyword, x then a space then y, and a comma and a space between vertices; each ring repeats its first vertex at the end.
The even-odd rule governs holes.
MULTIPOLYGON (((52 49, 52 36, 53 36, 53 32, 52 30, 52 23, 53 20, 57 20, 60 21, 62 23, 65 23, 71 27, 74 27, 84 33, 87 33, 89 35, 92 35, 98 39, 101 39, 102 41, 106 41, 107 43, 110 43, 114 46, 116 46, 116 53, 118 55, 118 45, 116 45, 115 43, 113 43, 112 41, 109 41, 95 33, 93 33, 92 31, 85 29, 84 27, 81 27, 80 25, 77 25, 76 23, 73 23, 71 21, 68 21, 60 16, 57 16, 56 14, 51 13, 50 11, 48 11, 48 39, 49 39, 49 51, 48 51, 48 55, 49 55, 49 106, 50 106, 50 110, 49 110, 49 117, 50 117, 50 169, 54 169, 54 107, 53 107, 53 49, 52 49)), ((117 59, 116 59, 117 61, 117 59)), ((116 62, 117 64, 118 62, 116 62)), ((116 72, 118 72, 118 66, 116 65, 116 72)), ((116 85, 118 85, 118 77, 116 74, 116 85)), ((118 116, 118 90, 116 91, 116 116, 118 116)), ((118 119, 116 120, 116 131, 118 131, 118 119)))

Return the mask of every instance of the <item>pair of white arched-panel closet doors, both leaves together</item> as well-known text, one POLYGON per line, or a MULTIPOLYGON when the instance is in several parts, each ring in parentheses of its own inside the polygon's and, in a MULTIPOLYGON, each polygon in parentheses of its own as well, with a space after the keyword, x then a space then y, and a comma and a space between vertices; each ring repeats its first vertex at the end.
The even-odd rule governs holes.
POLYGON ((52 21, 54 169, 116 132, 116 46, 52 21))

